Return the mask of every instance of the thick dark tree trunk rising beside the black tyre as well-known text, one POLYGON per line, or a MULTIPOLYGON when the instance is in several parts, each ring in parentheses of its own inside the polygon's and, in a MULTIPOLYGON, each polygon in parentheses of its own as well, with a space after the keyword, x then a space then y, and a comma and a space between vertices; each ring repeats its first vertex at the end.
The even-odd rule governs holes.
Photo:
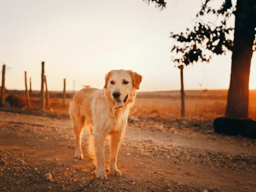
POLYGON ((249 78, 256 27, 253 0, 237 0, 226 117, 248 118, 249 78))

